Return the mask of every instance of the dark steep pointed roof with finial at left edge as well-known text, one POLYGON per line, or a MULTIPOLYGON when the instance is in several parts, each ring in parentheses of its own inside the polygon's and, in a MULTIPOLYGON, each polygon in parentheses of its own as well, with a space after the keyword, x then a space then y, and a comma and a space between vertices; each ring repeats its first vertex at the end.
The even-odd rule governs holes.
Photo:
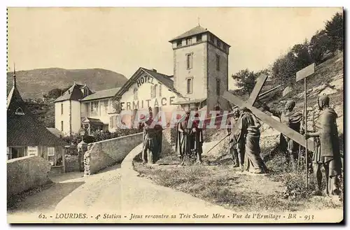
POLYGON ((7 106, 7 145, 8 146, 39 146, 67 145, 57 138, 31 114, 25 101, 22 100, 17 87, 8 94, 7 106), (21 114, 16 114, 22 112, 21 114))

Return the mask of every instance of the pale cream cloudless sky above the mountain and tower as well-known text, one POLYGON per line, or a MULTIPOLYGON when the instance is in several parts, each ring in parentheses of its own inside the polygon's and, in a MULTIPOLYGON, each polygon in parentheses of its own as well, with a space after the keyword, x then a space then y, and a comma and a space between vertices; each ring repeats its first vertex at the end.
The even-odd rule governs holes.
POLYGON ((229 76, 259 71, 342 8, 9 8, 8 67, 139 67, 173 75, 169 40, 198 23, 231 45, 229 76))

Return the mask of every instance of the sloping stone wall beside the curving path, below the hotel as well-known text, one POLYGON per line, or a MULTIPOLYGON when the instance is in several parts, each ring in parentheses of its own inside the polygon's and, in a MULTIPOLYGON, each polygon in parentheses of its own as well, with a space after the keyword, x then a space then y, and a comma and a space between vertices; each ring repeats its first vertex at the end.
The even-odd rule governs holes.
POLYGON ((142 143, 142 136, 139 133, 91 143, 90 149, 84 154, 85 174, 98 173, 120 163, 133 148, 142 143))

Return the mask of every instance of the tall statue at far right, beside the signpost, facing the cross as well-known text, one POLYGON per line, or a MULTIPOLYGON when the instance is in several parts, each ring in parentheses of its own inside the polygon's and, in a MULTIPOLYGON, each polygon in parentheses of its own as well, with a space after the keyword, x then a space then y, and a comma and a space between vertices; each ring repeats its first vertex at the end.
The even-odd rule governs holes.
POLYGON ((321 110, 318 117, 318 132, 307 133, 305 138, 319 138, 316 141, 313 156, 314 175, 317 180, 317 190, 314 195, 321 195, 322 173, 321 166, 325 168, 325 180, 327 195, 340 195, 340 178, 342 177, 342 160, 340 159, 339 137, 337 129, 337 113, 329 108, 329 97, 320 96, 317 99, 318 108, 321 110))

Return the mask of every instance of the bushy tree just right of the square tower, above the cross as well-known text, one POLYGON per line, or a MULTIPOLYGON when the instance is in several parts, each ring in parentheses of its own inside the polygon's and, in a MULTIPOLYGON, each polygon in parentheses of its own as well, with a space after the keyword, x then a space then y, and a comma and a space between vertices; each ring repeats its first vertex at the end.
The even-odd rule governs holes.
POLYGON ((244 69, 238 73, 232 74, 232 78, 236 81, 237 87, 240 88, 235 92, 238 92, 239 94, 250 94, 253 91, 258 76, 253 71, 244 69))

